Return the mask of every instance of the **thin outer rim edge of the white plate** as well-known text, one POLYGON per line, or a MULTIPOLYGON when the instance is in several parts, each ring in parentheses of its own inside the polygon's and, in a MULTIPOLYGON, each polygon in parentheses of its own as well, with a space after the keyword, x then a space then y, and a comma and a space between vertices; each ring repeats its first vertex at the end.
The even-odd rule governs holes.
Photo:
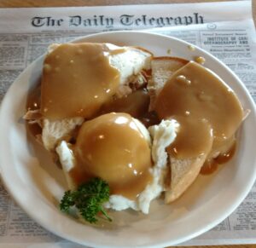
MULTIPOLYGON (((227 70, 228 72, 230 72, 232 74, 233 77, 236 78, 236 81, 239 82, 239 86, 244 90, 244 92, 246 93, 247 95, 247 100, 249 101, 249 103, 253 106, 253 109, 251 109, 251 114, 253 115, 254 117, 254 122, 256 123, 256 110, 255 110, 255 103, 253 101, 253 97, 249 94, 249 91, 247 90, 246 86, 244 84, 242 84, 240 78, 238 78, 236 76, 236 74, 234 72, 232 72, 230 70, 230 68, 228 66, 226 66, 222 61, 219 61, 217 58, 215 58, 213 55, 211 55, 210 53, 208 53, 206 50, 204 49, 201 49, 199 48, 198 46, 194 45, 194 44, 191 44, 191 43, 187 43, 177 37, 170 37, 170 36, 166 36, 166 35, 161 35, 161 34, 155 34, 155 33, 151 33, 151 32, 139 32, 139 31, 117 31, 117 32, 100 32, 100 33, 96 33, 96 34, 91 34, 91 35, 88 35, 88 36, 84 36, 84 37, 78 37, 78 38, 75 38, 73 41, 71 42, 79 42, 79 41, 83 41, 84 39, 88 39, 90 37, 93 37, 93 38, 96 38, 96 37, 102 37, 104 35, 116 35, 116 34, 120 34, 120 33, 134 33, 134 34, 137 34, 137 33, 140 33, 140 34, 143 34, 143 35, 148 35, 148 36, 155 36, 155 37, 165 37, 165 38, 168 38, 170 40, 176 40, 177 42, 179 43, 183 43, 183 44, 186 44, 186 45, 193 45, 195 47, 196 50, 199 50, 201 52, 203 52, 204 54, 207 54, 209 55, 212 60, 214 61, 217 61, 219 64, 221 64, 222 66, 224 66, 224 69, 227 70)), ((45 54, 44 54, 45 55, 45 54)), ((17 82, 19 82, 19 79, 24 76, 26 74, 26 71, 27 70, 31 70, 32 67, 35 65, 35 63, 37 63, 37 61, 40 61, 42 60, 42 58, 44 58, 44 55, 41 55, 40 57, 38 57, 37 60, 35 61, 32 61, 32 63, 29 65, 29 66, 26 66, 26 68, 24 69, 23 72, 20 73, 19 77, 15 79, 15 82, 11 85, 11 87, 8 89, 7 93, 4 95, 4 98, 3 98, 3 102, 1 104, 1 108, 0 108, 0 137, 2 137, 2 129, 1 127, 3 126, 3 109, 4 109, 4 106, 6 105, 6 102, 7 102, 7 98, 8 98, 8 95, 9 95, 9 91, 12 89, 12 87, 16 84, 18 84, 17 82)), ((256 158, 255 158, 256 159, 256 158)), ((255 159, 254 159, 254 163, 255 163, 255 159)), ((52 232, 53 234, 56 234, 58 236, 61 236, 62 238, 64 239, 69 239, 69 240, 72 240, 74 242, 77 242, 79 244, 84 244, 84 245, 93 245, 94 247, 108 247, 108 246, 102 246, 102 245, 96 245, 94 243, 86 243, 86 242, 83 242, 81 243, 79 240, 77 239, 73 239, 73 237, 70 237, 70 236, 67 236, 67 235, 61 235, 60 233, 58 232, 55 232, 55 230, 53 230, 53 228, 49 228, 49 226, 45 226, 44 225, 44 222, 42 222, 42 220, 40 218, 37 217, 37 215, 34 215, 32 214, 31 212, 27 212, 26 211, 26 208, 25 208, 25 205, 23 202, 20 202, 20 200, 18 199, 17 200, 17 197, 15 195, 15 192, 12 191, 12 187, 10 187, 9 185, 9 182, 7 180, 7 178, 5 178, 3 176, 3 171, 4 171, 4 166, 3 164, 5 164, 5 160, 8 160, 8 159, 4 159, 4 156, 3 156, 3 153, 2 151, 0 150, 0 168, 1 168, 1 177, 2 177, 2 182, 4 184, 4 187, 7 188, 8 192, 10 193, 11 197, 13 199, 15 199, 15 201, 18 202, 18 204, 20 205, 21 209, 23 209, 23 211, 26 212, 26 214, 28 216, 31 216, 33 220, 36 220, 36 222, 38 222, 42 227, 44 227, 45 229, 49 230, 50 232, 52 232)), ((254 164, 255 166, 255 164, 254 164)), ((225 214, 222 215, 221 218, 218 218, 216 220, 216 222, 211 222, 209 223, 209 225, 207 225, 206 228, 199 228, 199 230, 191 233, 189 236, 187 235, 186 237, 183 237, 183 238, 180 238, 180 239, 177 239, 175 240, 175 242, 162 242, 162 243, 157 243, 155 245, 149 245, 150 247, 159 247, 159 245, 163 245, 163 246, 166 246, 166 245, 177 245, 179 243, 182 243, 184 241, 187 241, 189 239, 193 239, 195 238, 196 236, 200 235, 200 234, 203 234, 205 232, 207 232, 209 229, 213 228, 214 226, 218 225, 219 222, 222 222, 227 216, 230 216, 230 214, 236 210, 236 208, 238 207, 238 205, 241 204, 242 200, 246 198, 247 194, 250 192, 251 188, 253 187, 253 183, 255 181, 255 178, 256 178, 256 170, 254 170, 254 174, 251 178, 251 180, 249 181, 249 183, 247 182, 247 189, 245 190, 245 193, 242 195, 242 197, 240 197, 239 199, 236 199, 236 203, 232 205, 232 207, 229 209, 229 211, 225 211, 225 214)), ((140 247, 149 247, 148 245, 139 245, 140 247)), ((115 246, 113 246, 115 247, 115 246)), ((119 247, 129 247, 129 246, 119 246, 119 247)))

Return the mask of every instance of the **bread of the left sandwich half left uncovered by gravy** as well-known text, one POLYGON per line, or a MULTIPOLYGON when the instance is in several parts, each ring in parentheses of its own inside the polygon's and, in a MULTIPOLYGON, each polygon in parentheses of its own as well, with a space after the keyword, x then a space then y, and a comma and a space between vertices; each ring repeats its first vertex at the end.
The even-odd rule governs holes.
MULTIPOLYGON (((113 44, 107 45, 109 49, 120 49, 120 47, 113 44)), ((48 54, 58 46, 60 44, 51 44, 48 48, 48 54)), ((129 95, 132 87, 138 88, 142 84, 145 84, 146 79, 141 72, 150 69, 151 59, 152 54, 150 52, 135 47, 125 47, 124 53, 113 53, 113 55, 110 55, 110 64, 120 72, 119 90, 116 93, 117 97, 129 95)), ((35 115, 30 114, 30 112, 26 112, 26 119, 37 123, 38 120, 34 118, 35 115)), ((65 118, 61 120, 49 120, 42 116, 40 118, 42 141, 44 147, 49 151, 54 151, 59 141, 67 140, 67 137, 73 135, 73 130, 84 122, 84 118, 65 118)))

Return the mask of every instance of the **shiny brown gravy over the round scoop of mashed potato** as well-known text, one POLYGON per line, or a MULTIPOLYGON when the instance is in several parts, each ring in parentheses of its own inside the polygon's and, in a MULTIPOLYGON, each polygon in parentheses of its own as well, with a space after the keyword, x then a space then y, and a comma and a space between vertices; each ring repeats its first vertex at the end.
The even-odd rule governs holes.
POLYGON ((85 122, 73 152, 79 166, 70 175, 78 184, 99 176, 111 193, 135 199, 151 181, 150 147, 129 114, 108 113, 85 122))

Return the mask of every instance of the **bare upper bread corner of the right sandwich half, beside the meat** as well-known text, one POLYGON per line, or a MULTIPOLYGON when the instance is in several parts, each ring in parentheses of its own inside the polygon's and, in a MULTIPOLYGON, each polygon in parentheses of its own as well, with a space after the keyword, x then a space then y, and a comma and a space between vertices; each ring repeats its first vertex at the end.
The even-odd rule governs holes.
POLYGON ((148 81, 150 95, 149 111, 154 109, 154 101, 168 78, 189 61, 176 57, 154 57, 151 61, 152 78, 148 81))

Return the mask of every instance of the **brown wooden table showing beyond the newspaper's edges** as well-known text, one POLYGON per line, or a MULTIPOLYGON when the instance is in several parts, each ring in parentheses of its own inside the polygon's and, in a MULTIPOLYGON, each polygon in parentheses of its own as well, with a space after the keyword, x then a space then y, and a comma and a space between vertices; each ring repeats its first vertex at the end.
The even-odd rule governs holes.
MULTIPOLYGON (((224 2, 225 0, 0 0, 0 8, 29 8, 29 7, 67 7, 67 6, 96 6, 96 5, 121 5, 121 4, 149 4, 149 3, 199 3, 199 2, 224 2)), ((228 0, 226 0, 228 1, 228 0)), ((253 20, 256 23, 256 0, 253 1, 253 20)), ((176 247, 176 246, 175 246, 176 247)), ((185 248, 187 246, 177 246, 185 248)), ((215 247, 215 248, 256 248, 255 245, 210 245, 189 246, 190 248, 215 247)))

